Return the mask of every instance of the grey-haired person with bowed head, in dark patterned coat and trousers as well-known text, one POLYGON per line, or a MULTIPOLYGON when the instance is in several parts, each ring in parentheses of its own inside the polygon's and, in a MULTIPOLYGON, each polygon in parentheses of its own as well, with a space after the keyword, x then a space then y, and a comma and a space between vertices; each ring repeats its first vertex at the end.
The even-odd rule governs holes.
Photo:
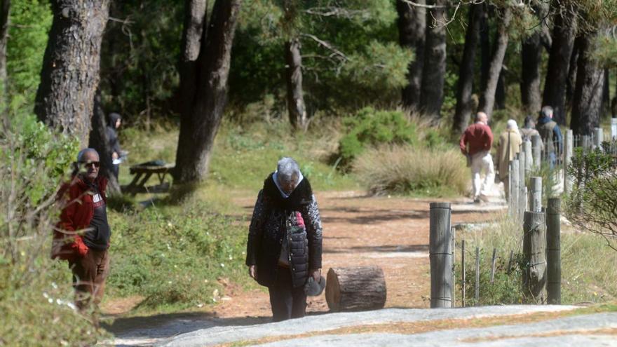
POLYGON ((249 275, 268 287, 273 320, 304 317, 309 277, 320 281, 322 227, 311 184, 292 158, 264 181, 249 227, 249 275))

